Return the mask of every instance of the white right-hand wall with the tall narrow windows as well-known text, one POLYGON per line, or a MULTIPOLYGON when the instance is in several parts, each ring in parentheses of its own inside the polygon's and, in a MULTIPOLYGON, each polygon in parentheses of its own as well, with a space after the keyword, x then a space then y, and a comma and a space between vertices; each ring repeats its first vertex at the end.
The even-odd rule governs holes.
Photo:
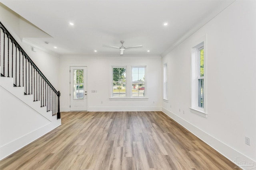
POLYGON ((230 160, 241 156, 256 166, 256 1, 231 4, 164 56, 164 63, 169 101, 163 111, 230 160), (189 109, 191 49, 204 36, 207 118, 189 109))

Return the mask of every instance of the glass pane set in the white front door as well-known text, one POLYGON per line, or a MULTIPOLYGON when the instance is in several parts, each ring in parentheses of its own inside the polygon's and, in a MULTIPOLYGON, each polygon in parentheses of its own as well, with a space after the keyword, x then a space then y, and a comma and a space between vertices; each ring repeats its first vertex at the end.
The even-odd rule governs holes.
POLYGON ((84 70, 74 69, 74 95, 73 99, 84 98, 84 70))

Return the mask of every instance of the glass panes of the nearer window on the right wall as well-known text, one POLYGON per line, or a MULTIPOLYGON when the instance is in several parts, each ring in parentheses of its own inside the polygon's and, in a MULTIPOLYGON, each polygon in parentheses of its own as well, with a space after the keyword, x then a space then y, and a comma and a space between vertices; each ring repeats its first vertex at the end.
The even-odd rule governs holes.
POLYGON ((198 107, 204 108, 204 46, 198 49, 198 107))

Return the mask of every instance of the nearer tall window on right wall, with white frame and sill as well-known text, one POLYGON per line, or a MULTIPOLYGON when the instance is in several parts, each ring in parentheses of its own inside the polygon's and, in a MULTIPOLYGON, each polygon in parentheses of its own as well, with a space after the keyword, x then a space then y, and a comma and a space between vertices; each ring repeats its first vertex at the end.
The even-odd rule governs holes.
POLYGON ((192 48, 192 106, 193 113, 207 117, 205 109, 205 47, 204 41, 192 48))

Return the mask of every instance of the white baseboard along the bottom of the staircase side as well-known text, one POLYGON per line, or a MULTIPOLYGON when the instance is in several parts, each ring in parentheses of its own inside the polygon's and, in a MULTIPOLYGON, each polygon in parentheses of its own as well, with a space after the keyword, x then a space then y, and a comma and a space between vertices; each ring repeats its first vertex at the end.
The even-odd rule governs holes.
POLYGON ((0 147, 0 160, 6 158, 7 156, 16 152, 17 150, 25 147, 29 143, 42 137, 43 135, 52 131, 53 129, 55 129, 56 127, 58 127, 60 125, 61 125, 61 119, 58 119, 57 121, 51 122, 48 125, 45 125, 44 127, 36 129, 35 131, 28 133, 27 135, 24 135, 12 142, 0 147))

